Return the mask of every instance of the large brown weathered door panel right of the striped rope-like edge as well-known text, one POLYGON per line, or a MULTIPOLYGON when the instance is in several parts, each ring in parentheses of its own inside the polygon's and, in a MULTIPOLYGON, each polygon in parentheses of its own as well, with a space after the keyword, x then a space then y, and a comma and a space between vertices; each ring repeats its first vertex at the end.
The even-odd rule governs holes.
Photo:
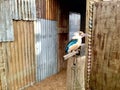
POLYGON ((120 1, 94 4, 91 90, 120 89, 120 1))

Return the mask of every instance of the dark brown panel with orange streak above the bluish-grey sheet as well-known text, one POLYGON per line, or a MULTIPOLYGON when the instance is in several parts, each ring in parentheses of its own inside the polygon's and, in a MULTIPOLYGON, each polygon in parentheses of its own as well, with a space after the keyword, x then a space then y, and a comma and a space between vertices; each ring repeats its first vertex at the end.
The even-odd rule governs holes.
POLYGON ((57 0, 36 0, 36 14, 39 19, 57 20, 58 9, 57 0))

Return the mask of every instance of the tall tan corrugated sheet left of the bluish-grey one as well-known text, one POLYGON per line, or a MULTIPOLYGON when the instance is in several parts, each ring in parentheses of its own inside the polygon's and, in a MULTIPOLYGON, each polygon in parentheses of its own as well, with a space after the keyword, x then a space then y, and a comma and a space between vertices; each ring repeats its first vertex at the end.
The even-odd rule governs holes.
POLYGON ((34 23, 13 21, 14 42, 8 42, 8 87, 18 90, 35 82, 34 23))

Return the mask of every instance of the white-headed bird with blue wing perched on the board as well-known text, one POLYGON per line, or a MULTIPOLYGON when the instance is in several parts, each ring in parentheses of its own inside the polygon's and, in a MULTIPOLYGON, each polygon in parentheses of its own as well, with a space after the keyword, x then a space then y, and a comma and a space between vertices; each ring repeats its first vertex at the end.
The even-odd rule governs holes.
POLYGON ((72 51, 76 51, 82 44, 82 38, 87 35, 88 34, 85 34, 82 31, 75 32, 72 39, 67 43, 67 45, 65 47, 65 52, 70 53, 72 51))

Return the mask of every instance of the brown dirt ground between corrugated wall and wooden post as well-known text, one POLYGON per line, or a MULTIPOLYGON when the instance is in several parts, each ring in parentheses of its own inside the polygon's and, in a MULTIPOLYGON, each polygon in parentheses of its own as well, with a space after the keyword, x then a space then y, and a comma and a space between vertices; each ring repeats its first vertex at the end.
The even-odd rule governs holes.
POLYGON ((67 90, 66 89, 66 70, 62 70, 56 75, 46 78, 26 90, 67 90))

